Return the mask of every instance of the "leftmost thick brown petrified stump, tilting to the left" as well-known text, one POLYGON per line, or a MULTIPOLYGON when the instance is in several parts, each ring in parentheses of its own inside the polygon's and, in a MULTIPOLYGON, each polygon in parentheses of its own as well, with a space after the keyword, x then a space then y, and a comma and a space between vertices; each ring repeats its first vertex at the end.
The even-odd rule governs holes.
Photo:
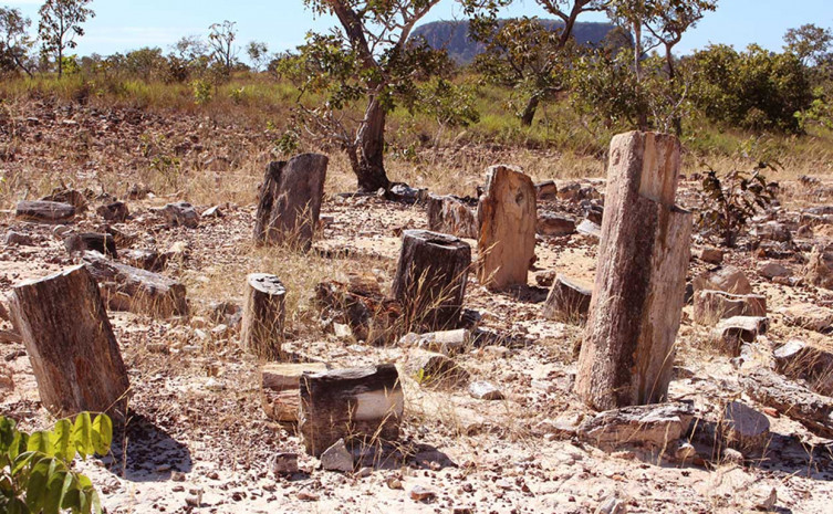
POLYGON ((15 286, 11 316, 50 412, 124 417, 127 369, 98 286, 83 265, 15 286))

